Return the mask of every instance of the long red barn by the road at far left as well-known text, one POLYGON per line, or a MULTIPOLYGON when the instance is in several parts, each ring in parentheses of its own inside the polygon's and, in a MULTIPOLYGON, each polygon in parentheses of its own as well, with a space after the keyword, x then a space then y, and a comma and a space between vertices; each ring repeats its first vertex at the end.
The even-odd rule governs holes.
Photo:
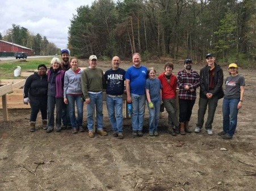
POLYGON ((0 56, 10 57, 13 56, 15 52, 24 52, 27 53, 28 56, 31 56, 32 51, 33 50, 28 47, 0 40, 0 56))

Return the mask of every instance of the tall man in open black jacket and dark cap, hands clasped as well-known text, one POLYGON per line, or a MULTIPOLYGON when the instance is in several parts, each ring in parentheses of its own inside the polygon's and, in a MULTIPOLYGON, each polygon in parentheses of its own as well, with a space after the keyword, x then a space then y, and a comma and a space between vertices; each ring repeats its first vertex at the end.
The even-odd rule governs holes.
POLYGON ((198 109, 198 123, 195 133, 199 133, 203 128, 204 115, 208 105, 208 117, 205 122, 205 129, 209 135, 212 135, 212 123, 218 100, 223 98, 223 70, 215 63, 215 56, 207 54, 207 66, 200 70, 200 98, 198 109))

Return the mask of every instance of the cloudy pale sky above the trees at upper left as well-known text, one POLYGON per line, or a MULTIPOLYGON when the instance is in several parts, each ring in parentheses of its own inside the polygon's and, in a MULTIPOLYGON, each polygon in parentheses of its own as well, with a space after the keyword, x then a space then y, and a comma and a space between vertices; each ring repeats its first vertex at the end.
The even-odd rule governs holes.
POLYGON ((68 44, 68 27, 76 8, 94 0, 1 0, 0 32, 2 36, 12 24, 27 28, 32 34, 46 36, 60 49, 68 44))

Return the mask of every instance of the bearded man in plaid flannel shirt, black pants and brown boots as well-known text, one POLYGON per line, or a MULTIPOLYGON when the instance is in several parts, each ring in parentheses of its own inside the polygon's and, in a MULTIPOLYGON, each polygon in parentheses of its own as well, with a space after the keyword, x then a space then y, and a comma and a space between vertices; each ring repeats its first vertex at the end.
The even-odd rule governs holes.
POLYGON ((184 60, 184 69, 177 75, 179 87, 179 131, 181 134, 192 133, 188 122, 192 108, 196 101, 196 88, 199 87, 200 77, 198 72, 192 70, 192 60, 184 60))

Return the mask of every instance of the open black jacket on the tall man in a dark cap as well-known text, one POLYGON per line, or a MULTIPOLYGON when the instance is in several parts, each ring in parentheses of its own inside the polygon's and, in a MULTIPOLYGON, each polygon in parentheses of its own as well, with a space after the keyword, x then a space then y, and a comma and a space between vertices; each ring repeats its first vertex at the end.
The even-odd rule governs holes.
POLYGON ((214 63, 215 71, 214 71, 214 80, 215 80, 215 88, 213 90, 209 90, 209 66, 204 66, 200 70, 200 98, 207 99, 205 96, 207 93, 212 93, 213 96, 218 96, 218 98, 223 98, 223 70, 221 67, 214 63))

